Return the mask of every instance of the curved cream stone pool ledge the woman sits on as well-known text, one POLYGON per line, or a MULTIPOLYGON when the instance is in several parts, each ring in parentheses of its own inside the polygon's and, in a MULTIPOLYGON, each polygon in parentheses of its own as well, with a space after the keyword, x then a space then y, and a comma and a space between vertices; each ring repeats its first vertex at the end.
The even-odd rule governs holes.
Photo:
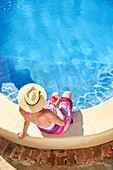
POLYGON ((23 118, 18 105, 0 93, 0 135, 28 147, 39 149, 80 149, 94 147, 113 140, 113 98, 90 109, 73 112, 74 123, 61 135, 42 134, 31 124, 28 136, 19 140, 23 118))

